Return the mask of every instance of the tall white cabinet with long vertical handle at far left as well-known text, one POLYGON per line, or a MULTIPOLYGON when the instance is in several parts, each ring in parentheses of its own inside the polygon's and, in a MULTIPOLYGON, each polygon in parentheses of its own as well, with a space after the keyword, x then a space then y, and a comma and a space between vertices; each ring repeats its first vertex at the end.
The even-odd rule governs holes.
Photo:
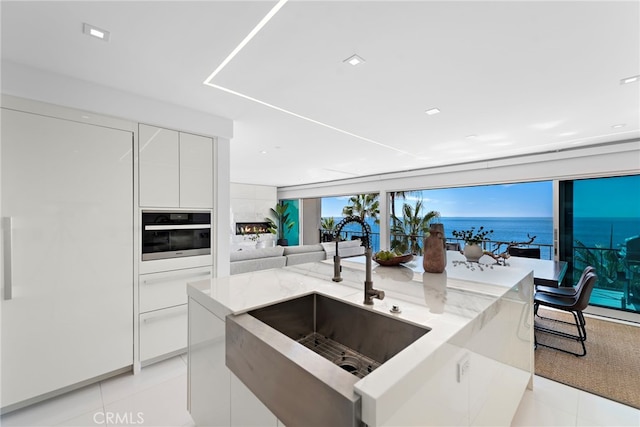
POLYGON ((2 408, 133 362, 133 133, 2 109, 2 408))

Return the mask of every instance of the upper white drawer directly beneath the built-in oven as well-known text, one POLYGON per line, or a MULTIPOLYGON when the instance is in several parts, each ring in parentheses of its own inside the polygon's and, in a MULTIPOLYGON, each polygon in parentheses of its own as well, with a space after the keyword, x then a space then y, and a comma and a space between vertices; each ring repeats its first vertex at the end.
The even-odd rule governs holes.
POLYGON ((140 313, 187 303, 187 283, 211 278, 211 267, 142 274, 139 282, 140 313))

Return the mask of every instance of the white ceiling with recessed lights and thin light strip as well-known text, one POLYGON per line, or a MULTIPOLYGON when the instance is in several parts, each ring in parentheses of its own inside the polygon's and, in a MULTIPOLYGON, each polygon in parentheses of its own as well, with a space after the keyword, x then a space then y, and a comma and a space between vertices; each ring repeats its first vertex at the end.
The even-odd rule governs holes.
POLYGON ((233 119, 241 183, 640 137, 639 1, 290 0, 204 85, 275 4, 2 1, 2 59, 233 119))

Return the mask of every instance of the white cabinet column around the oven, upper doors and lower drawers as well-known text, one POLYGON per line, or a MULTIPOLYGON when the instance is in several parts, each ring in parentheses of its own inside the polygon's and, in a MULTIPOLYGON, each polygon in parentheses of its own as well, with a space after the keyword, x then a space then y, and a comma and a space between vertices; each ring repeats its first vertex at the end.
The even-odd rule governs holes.
MULTIPOLYGON (((140 210, 213 208, 213 138, 146 124, 138 125, 138 138, 140 210)), ((211 278, 212 259, 138 257, 140 366, 186 351, 186 284, 211 278)))

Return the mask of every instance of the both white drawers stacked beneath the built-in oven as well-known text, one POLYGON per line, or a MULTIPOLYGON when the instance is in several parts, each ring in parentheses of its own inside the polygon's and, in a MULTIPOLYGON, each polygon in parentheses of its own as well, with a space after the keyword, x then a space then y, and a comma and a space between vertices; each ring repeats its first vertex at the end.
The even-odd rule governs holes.
POLYGON ((211 267, 142 274, 138 282, 140 361, 187 347, 187 283, 211 278, 211 267))

